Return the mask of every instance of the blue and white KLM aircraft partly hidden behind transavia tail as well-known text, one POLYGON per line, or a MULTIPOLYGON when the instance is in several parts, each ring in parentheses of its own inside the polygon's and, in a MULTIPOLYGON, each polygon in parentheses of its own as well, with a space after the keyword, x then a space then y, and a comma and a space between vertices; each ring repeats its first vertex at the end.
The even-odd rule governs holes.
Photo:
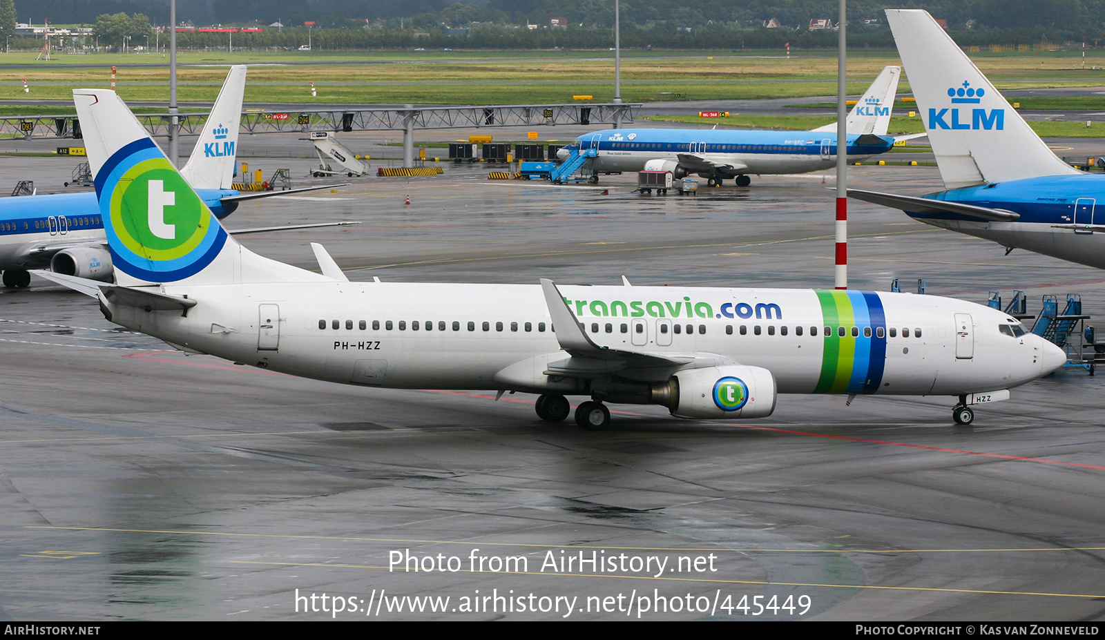
MULTIPOLYGON (((232 188, 244 91, 245 65, 232 66, 192 155, 180 170, 204 204, 220 219, 230 216, 242 200, 325 188, 246 193, 239 193, 232 188)), ((246 229, 235 233, 269 230, 246 229)), ((95 193, 86 191, 0 199, 0 270, 3 270, 3 285, 28 286, 31 284, 28 270, 44 266, 70 275, 112 280, 112 259, 95 193)))

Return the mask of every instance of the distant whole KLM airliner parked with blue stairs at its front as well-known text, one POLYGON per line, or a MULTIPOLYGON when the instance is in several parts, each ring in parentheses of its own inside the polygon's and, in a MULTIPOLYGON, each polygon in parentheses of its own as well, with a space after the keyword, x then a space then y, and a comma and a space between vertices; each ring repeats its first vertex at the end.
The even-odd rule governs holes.
MULTIPOLYGON (((848 115, 848 155, 862 160, 888 151, 894 141, 918 136, 887 136, 902 67, 883 69, 848 115)), ((569 148, 598 149, 596 174, 672 171, 707 178, 714 187, 736 178, 738 187, 751 175, 804 174, 836 165, 836 124, 810 132, 741 129, 607 129, 576 138, 569 148)), ((568 157, 569 148, 558 157, 568 157)), ((597 181, 597 176, 592 178, 597 181)))

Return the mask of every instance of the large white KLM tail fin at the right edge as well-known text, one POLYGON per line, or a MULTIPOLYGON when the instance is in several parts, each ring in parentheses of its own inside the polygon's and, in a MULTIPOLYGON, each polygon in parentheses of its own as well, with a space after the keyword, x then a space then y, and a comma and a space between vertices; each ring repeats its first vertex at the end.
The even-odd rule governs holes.
POLYGON ((1048 148, 927 11, 887 9, 886 20, 948 189, 1080 172, 1048 148))

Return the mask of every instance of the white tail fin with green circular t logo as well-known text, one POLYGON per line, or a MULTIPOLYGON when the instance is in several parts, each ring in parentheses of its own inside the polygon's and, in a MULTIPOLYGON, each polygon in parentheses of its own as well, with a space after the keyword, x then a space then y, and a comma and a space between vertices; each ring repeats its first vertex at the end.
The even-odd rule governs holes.
POLYGON ((73 101, 118 284, 326 280, 228 235, 115 92, 78 88, 73 101))

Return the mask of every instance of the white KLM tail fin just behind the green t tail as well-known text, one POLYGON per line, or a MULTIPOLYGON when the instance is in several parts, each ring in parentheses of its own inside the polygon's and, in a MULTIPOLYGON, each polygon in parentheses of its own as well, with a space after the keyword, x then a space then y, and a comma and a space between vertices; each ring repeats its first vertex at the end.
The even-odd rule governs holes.
POLYGON ((230 67, 196 148, 180 174, 193 189, 233 189, 238 129, 245 94, 245 65, 230 67))

